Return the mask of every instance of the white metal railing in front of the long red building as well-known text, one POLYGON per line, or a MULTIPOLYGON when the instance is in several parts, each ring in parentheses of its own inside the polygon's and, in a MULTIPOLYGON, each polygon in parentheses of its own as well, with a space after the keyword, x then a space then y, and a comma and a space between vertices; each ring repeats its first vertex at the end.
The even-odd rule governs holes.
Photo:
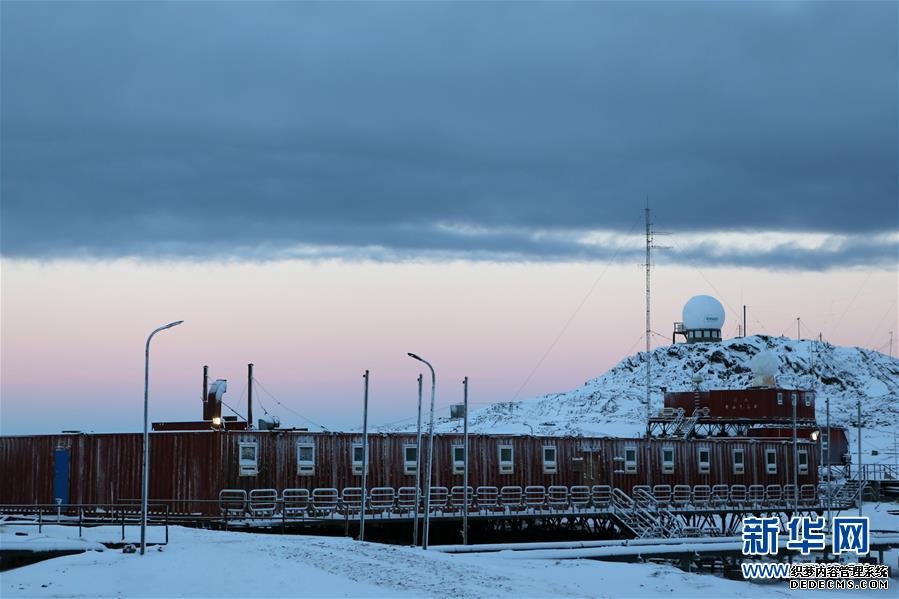
MULTIPOLYGON (((461 517, 461 498, 465 496, 461 487, 436 489, 448 491, 447 500, 432 502, 431 515, 461 517)), ((671 523, 677 521, 675 514, 678 513, 797 509, 793 491, 778 493, 776 491, 779 489, 764 487, 750 487, 749 490, 755 491, 755 494, 748 493, 743 485, 732 485, 727 490, 723 485, 711 490, 707 485, 678 485, 673 490, 668 485, 656 485, 653 488, 635 487, 631 497, 623 490, 608 485, 478 486, 468 492, 468 511, 471 517, 481 518, 616 515, 634 528, 637 534, 647 534, 670 528, 671 523)), ((803 485, 800 495, 798 509, 823 507, 824 495, 818 493, 813 485, 803 485)), ((358 519, 360 510, 364 510, 366 520, 412 518, 416 511, 414 497, 414 487, 378 487, 370 489, 364 497, 359 487, 343 489, 342 492, 334 488, 258 489, 249 492, 223 489, 217 499, 154 499, 150 505, 148 523, 165 526, 166 542, 170 524, 225 528, 280 526, 286 529, 288 525, 343 521, 349 534, 350 520, 358 519)), ((840 503, 838 497, 833 499, 834 503, 840 503)), ((424 513, 421 501, 417 512, 424 513)), ((115 504, 0 505, 2 514, 30 518, 38 526, 50 522, 77 524, 79 527, 117 524, 122 529, 124 542, 126 527, 140 522, 140 500, 123 499, 115 504)))

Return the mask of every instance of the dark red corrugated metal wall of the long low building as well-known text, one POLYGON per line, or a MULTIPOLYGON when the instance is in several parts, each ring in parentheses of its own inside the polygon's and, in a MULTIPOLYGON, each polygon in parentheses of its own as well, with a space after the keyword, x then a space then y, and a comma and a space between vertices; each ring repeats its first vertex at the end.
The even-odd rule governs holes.
MULTIPOLYGON (((352 470, 351 451, 362 435, 352 433, 160 432, 150 435, 151 499, 214 500, 223 488, 261 489, 357 487, 362 477, 352 470), (241 442, 259 446, 258 473, 240 476, 241 442), (315 473, 301 476, 297 443, 315 444, 315 473)), ((368 486, 414 486, 415 476, 403 471, 403 446, 414 445, 409 434, 370 435, 368 486)), ((452 469, 452 447, 461 435, 435 438, 435 486, 462 484, 452 469)), ((619 439, 584 437, 524 437, 471 435, 471 486, 609 484, 630 491, 637 484, 789 484, 792 444, 784 439, 619 439), (513 472, 500 474, 499 446, 513 447, 513 472), (558 469, 543 472, 543 446, 556 448, 558 469), (675 450, 675 473, 662 473, 662 448, 675 450), (637 472, 624 472, 625 449, 637 451, 637 472), (698 449, 710 450, 709 473, 699 472, 698 449), (734 474, 734 448, 745 452, 745 473, 734 474), (777 452, 777 473, 767 474, 765 450, 777 452)), ((77 434, 0 437, 0 503, 52 503, 54 450, 71 451, 70 502, 113 503, 140 497, 140 434, 77 434)), ((817 445, 808 449, 808 474, 800 484, 817 482, 817 445)), ((426 457, 427 438, 422 456, 426 457)), ((426 468, 422 465, 422 479, 426 468)))

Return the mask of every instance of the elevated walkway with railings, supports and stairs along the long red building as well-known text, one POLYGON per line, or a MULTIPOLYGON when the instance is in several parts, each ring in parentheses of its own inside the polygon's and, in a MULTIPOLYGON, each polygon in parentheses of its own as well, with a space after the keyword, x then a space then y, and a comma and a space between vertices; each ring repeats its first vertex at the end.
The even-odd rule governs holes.
MULTIPOLYGON (((851 507, 857 489, 844 486, 832 509, 851 507)), ((739 532, 745 516, 769 514, 786 521, 796 513, 822 513, 824 502, 814 485, 797 493, 792 485, 637 486, 630 494, 609 485, 549 487, 469 487, 468 518, 493 528, 576 526, 619 537, 726 537, 739 532)), ((432 487, 432 522, 463 518, 462 487, 432 487)), ((217 500, 158 500, 150 505, 148 523, 183 524, 244 530, 328 530, 349 534, 360 518, 378 525, 411 523, 424 516, 416 507, 415 488, 359 487, 337 489, 223 489, 217 500), (417 516, 416 516, 417 514, 417 516)), ((0 517, 18 522, 97 526, 115 524, 124 538, 126 525, 139 522, 136 500, 104 506, 0 505, 0 517), (4 516, 5 515, 5 516, 4 516)))

